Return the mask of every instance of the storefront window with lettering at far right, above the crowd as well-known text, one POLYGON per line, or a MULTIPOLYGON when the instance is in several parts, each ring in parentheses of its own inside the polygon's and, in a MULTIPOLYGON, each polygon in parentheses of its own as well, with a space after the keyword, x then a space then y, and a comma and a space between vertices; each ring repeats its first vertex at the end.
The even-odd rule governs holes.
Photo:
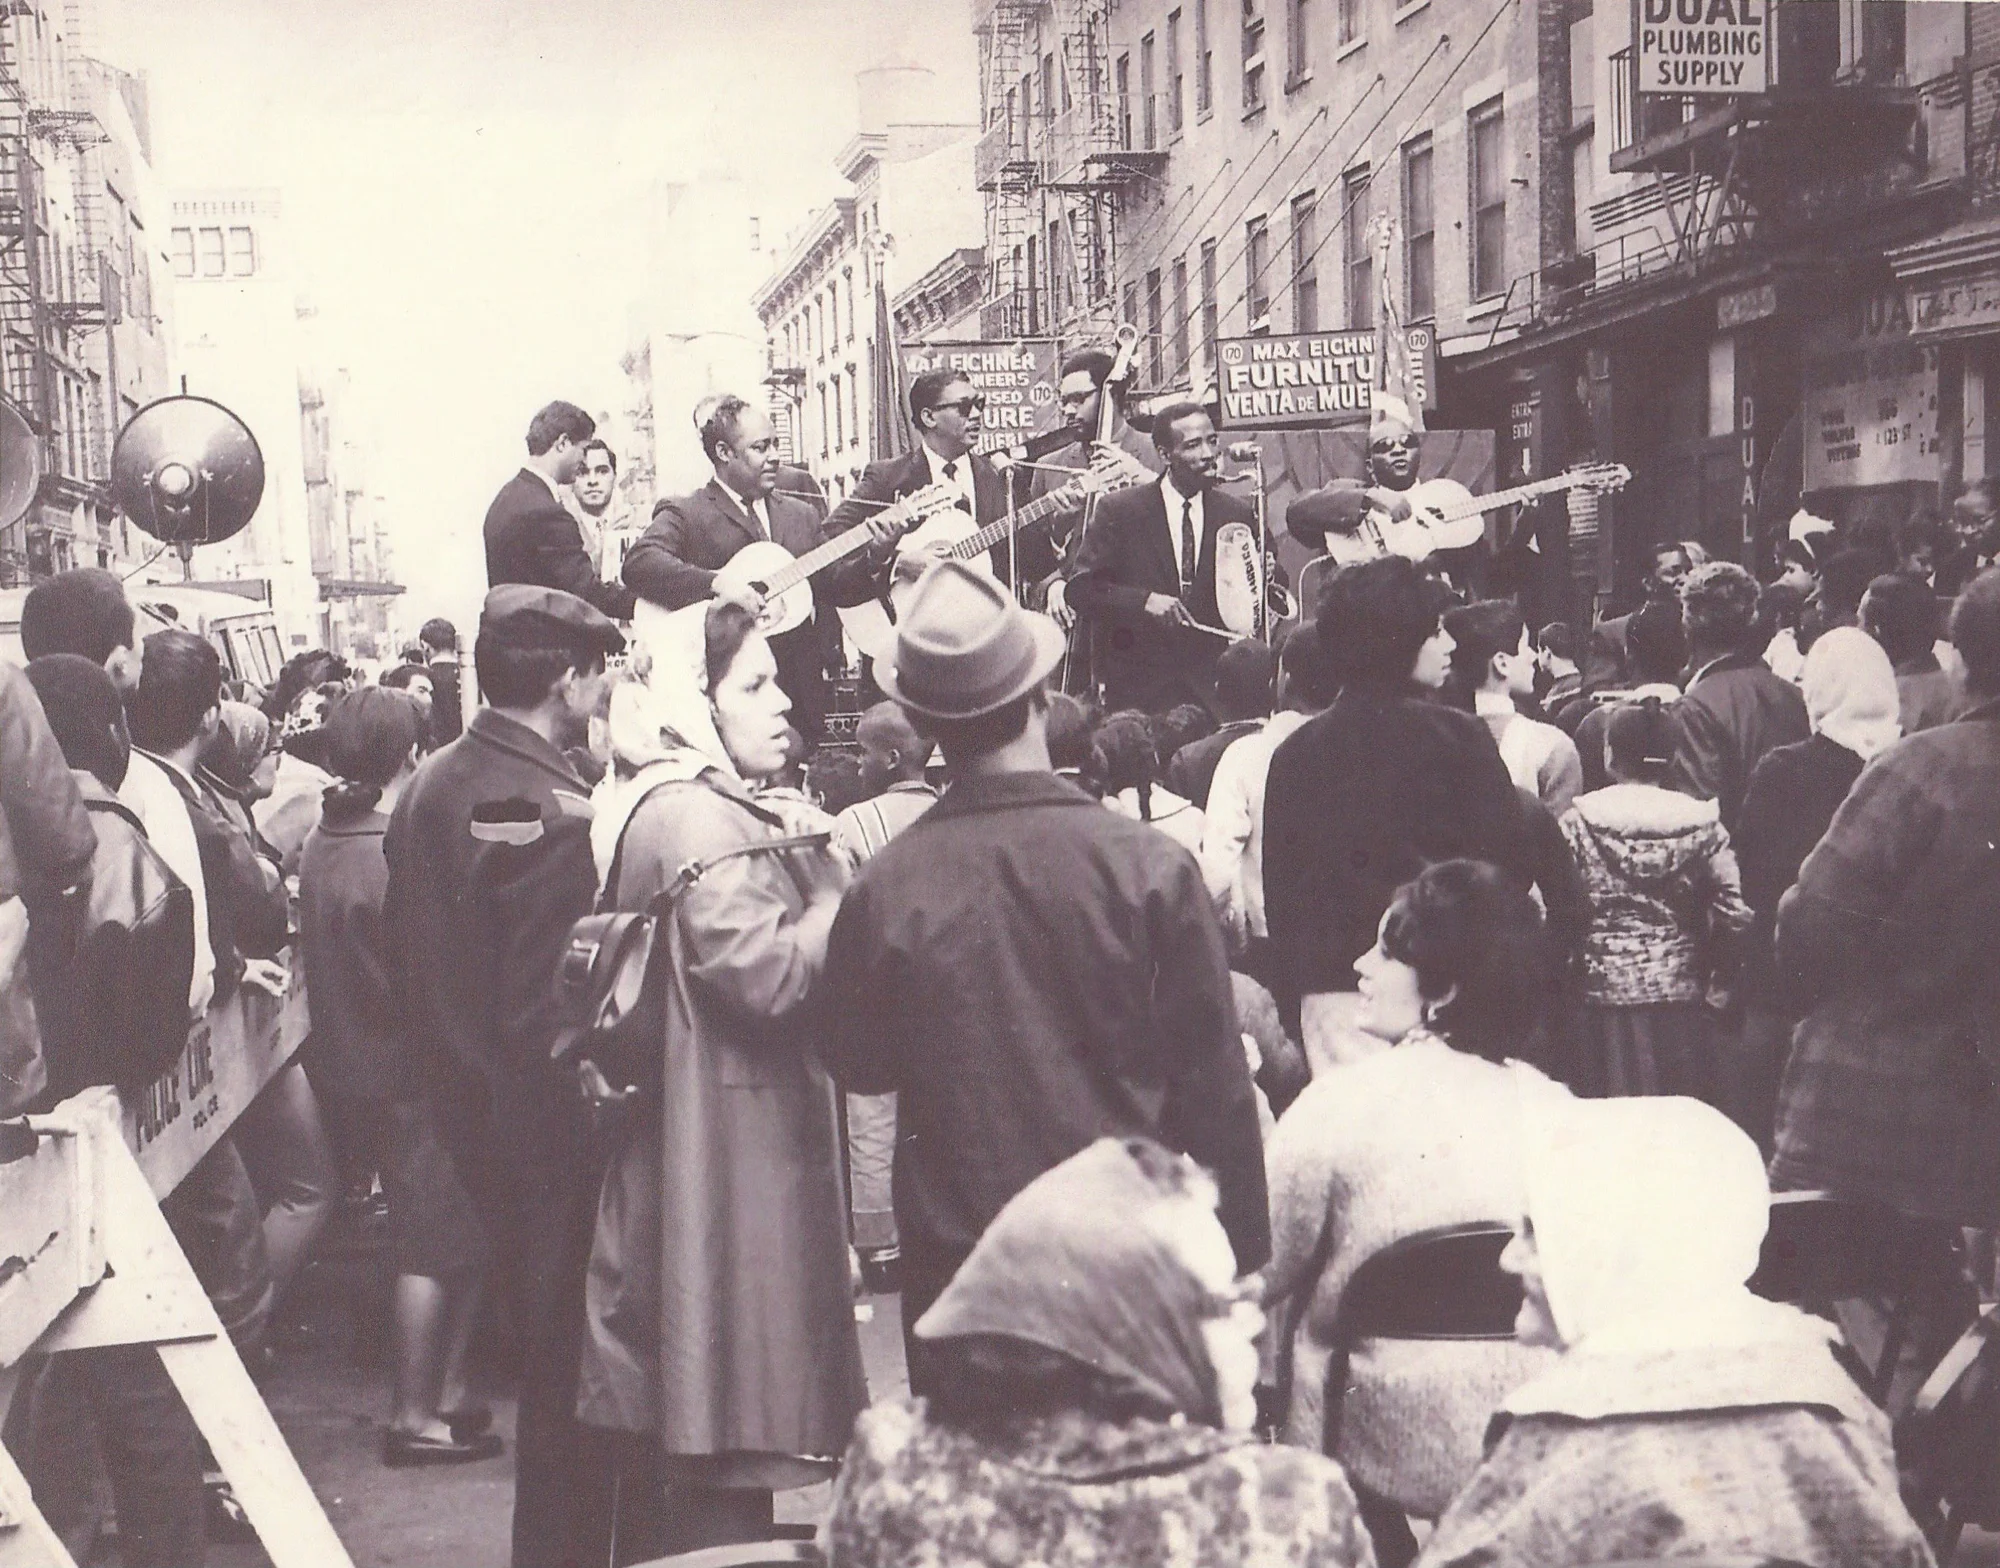
POLYGON ((1938 478, 1938 350, 1910 338, 1902 290, 1808 336, 1804 436, 1806 490, 1938 478))

